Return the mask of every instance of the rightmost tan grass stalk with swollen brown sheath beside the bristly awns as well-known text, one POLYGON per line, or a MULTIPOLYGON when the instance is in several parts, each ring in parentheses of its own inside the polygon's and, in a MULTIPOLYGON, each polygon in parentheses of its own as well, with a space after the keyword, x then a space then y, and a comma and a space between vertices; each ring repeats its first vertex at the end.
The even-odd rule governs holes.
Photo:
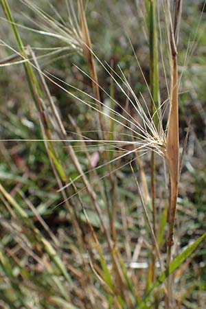
MULTIPOLYGON (((176 200, 179 184, 179 95, 178 95, 178 69, 177 69, 177 42, 179 34, 179 20, 181 17, 181 0, 174 1, 173 23, 170 13, 170 3, 167 2, 169 17, 168 38, 170 43, 170 111, 168 118, 168 135, 166 141, 165 157, 170 173, 170 207, 168 211, 168 247, 167 266, 169 267, 174 244, 174 220, 176 214, 176 200)), ((172 306, 172 279, 168 277, 167 308, 172 306)))

